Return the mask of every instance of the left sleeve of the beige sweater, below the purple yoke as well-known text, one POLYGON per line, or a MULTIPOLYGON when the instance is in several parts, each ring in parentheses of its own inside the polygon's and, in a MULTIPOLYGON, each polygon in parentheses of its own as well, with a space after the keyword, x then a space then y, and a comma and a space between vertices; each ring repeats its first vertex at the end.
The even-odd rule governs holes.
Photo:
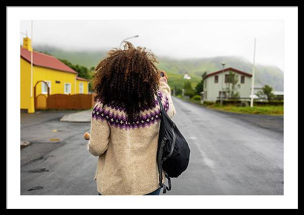
POLYGON ((88 143, 88 150, 94 156, 102 155, 108 148, 110 126, 106 120, 99 120, 92 117, 91 133, 88 143))

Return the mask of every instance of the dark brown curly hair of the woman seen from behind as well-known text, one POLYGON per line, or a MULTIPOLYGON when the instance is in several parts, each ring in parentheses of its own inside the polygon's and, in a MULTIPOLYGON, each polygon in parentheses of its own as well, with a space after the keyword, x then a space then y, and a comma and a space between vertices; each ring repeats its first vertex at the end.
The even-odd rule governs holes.
POLYGON ((136 120, 142 107, 155 107, 160 78, 155 63, 152 52, 128 41, 123 50, 111 49, 94 71, 94 101, 123 107, 127 120, 136 120))

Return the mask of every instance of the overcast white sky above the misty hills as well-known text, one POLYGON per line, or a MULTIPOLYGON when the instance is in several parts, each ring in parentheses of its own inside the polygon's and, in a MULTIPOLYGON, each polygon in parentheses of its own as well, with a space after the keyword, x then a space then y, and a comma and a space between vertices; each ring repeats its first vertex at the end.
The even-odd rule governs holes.
MULTIPOLYGON (((20 31, 30 21, 20 21, 20 31)), ((284 21, 281 20, 34 20, 33 47, 49 45, 67 50, 118 47, 133 35, 135 46, 151 49, 157 56, 199 58, 242 56, 284 71, 284 21)), ((20 34, 21 44, 22 37, 20 34)))

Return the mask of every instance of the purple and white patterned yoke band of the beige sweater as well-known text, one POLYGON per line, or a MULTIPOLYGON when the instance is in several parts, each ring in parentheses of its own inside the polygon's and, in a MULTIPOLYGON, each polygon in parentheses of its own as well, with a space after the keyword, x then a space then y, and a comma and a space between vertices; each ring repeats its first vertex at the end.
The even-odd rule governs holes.
MULTIPOLYGON (((161 92, 158 93, 160 96, 160 99, 162 101, 162 104, 164 106, 164 109, 166 110, 166 112, 168 112, 169 110, 169 100, 167 98, 167 96, 163 96, 163 94, 161 92)), ((158 106, 158 100, 156 99, 155 102, 155 106, 158 106)), ((141 114, 135 121, 129 122, 127 121, 127 118, 125 116, 125 114, 118 114, 118 113, 114 113, 113 111, 111 111, 110 109, 107 108, 111 108, 114 110, 120 110, 120 111, 125 111, 125 108, 123 107, 119 107, 119 106, 113 106, 113 105, 105 105, 102 107, 99 107, 98 105, 94 107, 93 112, 92 112, 92 117, 96 120, 106 120, 109 122, 109 124, 111 126, 115 126, 121 129, 134 129, 134 128, 140 128, 140 127, 146 127, 149 126, 151 124, 154 124, 156 121, 158 121, 161 115, 161 111, 160 109, 158 110, 154 110, 151 112, 148 112, 146 114, 141 114)), ((147 108, 146 106, 141 108, 141 111, 145 111, 145 110, 149 110, 149 108, 147 108)))

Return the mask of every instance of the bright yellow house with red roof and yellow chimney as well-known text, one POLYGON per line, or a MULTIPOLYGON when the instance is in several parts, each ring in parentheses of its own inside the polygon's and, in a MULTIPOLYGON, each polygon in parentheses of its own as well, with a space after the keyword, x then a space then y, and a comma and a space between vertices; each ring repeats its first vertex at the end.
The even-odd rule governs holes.
POLYGON ((89 94, 88 79, 78 77, 78 72, 54 56, 32 51, 31 41, 25 37, 20 48, 20 109, 34 112, 34 96, 46 98, 48 87, 50 95, 89 94))

